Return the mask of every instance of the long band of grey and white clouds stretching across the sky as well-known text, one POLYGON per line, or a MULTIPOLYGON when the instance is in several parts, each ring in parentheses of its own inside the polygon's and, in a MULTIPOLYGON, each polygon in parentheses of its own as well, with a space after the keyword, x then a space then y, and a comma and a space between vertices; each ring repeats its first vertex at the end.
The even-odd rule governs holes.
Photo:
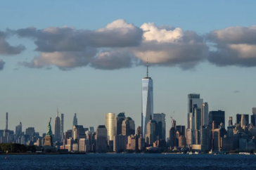
POLYGON ((30 68, 94 67, 101 70, 144 65, 190 70, 201 62, 217 66, 256 66, 256 26, 227 27, 205 35, 169 25, 143 23, 136 27, 125 20, 115 20, 98 30, 75 27, 27 27, 0 31, 0 55, 19 54, 25 46, 11 46, 9 35, 31 39, 39 55, 20 65, 30 68))

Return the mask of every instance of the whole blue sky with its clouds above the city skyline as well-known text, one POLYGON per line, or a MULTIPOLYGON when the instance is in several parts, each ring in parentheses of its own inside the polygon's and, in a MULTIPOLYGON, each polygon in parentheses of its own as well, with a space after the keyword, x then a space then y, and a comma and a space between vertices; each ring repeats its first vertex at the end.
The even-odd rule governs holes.
MULTIPOLYGON (((125 112, 141 125, 141 79, 154 112, 187 124, 188 93, 209 110, 252 114, 256 105, 255 1, 1 1, 0 129, 49 118, 84 127, 125 112)), ((53 121, 51 123, 53 126, 53 121)))

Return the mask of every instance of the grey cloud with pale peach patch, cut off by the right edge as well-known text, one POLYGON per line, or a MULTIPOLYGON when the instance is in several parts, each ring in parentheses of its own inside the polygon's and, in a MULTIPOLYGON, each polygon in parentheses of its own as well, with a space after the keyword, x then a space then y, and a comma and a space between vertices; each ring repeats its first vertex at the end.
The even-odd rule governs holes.
POLYGON ((207 34, 208 41, 214 44, 208 60, 218 66, 256 66, 256 26, 227 27, 207 34))

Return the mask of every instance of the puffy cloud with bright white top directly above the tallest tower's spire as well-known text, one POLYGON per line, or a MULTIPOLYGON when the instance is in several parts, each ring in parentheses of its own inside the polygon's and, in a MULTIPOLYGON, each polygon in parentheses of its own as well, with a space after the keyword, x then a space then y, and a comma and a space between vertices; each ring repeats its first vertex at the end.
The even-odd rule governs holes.
POLYGON ((191 69, 205 60, 208 48, 203 37, 192 31, 177 27, 157 27, 154 23, 141 25, 143 43, 134 48, 134 55, 153 65, 174 66, 191 69))

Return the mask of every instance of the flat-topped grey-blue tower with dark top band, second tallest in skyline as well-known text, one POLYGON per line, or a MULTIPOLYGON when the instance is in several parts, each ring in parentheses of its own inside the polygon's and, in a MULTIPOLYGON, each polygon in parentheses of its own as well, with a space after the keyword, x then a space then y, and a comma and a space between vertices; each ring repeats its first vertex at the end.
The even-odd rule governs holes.
POLYGON ((203 105, 203 99, 200 98, 200 94, 196 94, 196 93, 188 94, 188 128, 191 127, 191 114, 190 113, 193 113, 194 105, 198 105, 198 107, 203 105))

